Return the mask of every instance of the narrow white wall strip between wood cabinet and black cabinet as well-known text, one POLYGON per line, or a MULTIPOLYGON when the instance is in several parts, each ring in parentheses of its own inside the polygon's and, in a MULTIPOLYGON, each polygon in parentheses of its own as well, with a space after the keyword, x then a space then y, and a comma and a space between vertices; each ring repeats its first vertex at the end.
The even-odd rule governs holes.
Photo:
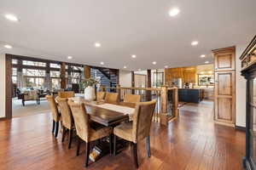
POLYGON ((246 80, 241 77, 242 52, 247 48, 245 45, 236 45, 236 126, 246 126, 246 80))

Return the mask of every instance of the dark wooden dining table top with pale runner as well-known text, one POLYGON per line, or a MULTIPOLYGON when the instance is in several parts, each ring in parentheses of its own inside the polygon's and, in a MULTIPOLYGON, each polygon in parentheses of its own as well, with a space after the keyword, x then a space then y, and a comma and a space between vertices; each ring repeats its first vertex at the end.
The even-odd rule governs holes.
POLYGON ((98 122, 106 127, 113 127, 120 122, 129 121, 134 110, 135 103, 113 102, 105 103, 103 101, 88 101, 81 97, 70 98, 74 102, 82 102, 85 105, 86 112, 90 115, 90 120, 98 122))

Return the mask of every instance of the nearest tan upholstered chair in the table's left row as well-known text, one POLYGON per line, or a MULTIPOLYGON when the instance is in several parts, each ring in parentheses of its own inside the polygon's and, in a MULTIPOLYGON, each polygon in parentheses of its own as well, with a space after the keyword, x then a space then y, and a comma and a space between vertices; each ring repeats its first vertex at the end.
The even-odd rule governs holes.
POLYGON ((88 167, 89 154, 90 154, 90 142, 109 136, 110 153, 112 152, 111 133, 113 133, 113 128, 104 127, 96 122, 90 122, 90 116, 86 113, 83 103, 75 103, 72 99, 69 99, 68 105, 71 108, 77 135, 79 136, 77 156, 79 156, 80 142, 81 142, 80 140, 82 139, 84 140, 85 147, 86 147, 85 148, 86 150, 85 167, 88 167), (92 126, 91 123, 93 123, 94 126, 92 126))

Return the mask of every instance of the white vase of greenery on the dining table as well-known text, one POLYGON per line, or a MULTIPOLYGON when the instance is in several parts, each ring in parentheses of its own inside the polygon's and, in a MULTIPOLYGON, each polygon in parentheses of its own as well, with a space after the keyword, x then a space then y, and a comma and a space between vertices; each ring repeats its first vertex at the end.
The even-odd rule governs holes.
POLYGON ((95 96, 95 85, 99 83, 94 78, 87 78, 84 80, 84 99, 86 100, 94 100, 95 96))

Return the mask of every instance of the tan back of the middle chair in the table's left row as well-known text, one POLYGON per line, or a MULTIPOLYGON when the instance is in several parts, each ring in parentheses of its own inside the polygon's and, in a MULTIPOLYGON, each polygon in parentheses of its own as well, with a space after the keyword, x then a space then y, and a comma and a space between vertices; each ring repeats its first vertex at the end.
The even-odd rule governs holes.
POLYGON ((67 104, 67 98, 56 98, 61 108, 61 120, 62 125, 68 129, 73 127, 73 116, 69 105, 67 104))

